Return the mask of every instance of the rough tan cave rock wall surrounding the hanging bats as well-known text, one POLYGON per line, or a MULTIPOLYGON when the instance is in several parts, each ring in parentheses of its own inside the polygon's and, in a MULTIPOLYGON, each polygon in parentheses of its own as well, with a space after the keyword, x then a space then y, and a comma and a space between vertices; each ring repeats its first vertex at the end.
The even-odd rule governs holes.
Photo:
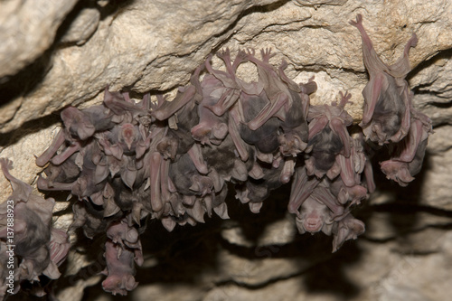
MULTIPOLYGON (((272 62, 285 59, 290 78, 315 76, 313 103, 351 92, 347 109, 359 121, 367 74, 361 38, 348 21, 363 14, 377 52, 389 62, 417 33, 409 81, 415 107, 432 118, 436 134, 423 172, 404 189, 384 179, 377 152, 379 192, 356 211, 367 227, 362 237, 331 254, 324 235, 298 235, 293 217, 285 214, 288 186, 259 215, 231 196, 231 221, 212 219, 172 233, 148 225, 140 286, 129 299, 446 300, 452 294, 450 1, 28 0, 1 2, 0 10, 0 156, 14 160, 12 173, 26 183, 40 172, 33 155, 42 153, 59 127, 55 113, 69 104, 99 103, 108 84, 137 98, 168 92, 187 83, 210 52, 271 47, 272 62)), ((256 77, 255 68, 240 66, 240 77, 256 77)), ((0 201, 10 193, 0 176, 0 201)), ((70 203, 55 211, 54 221, 68 226, 70 203)), ((71 240, 78 247, 55 295, 113 300, 99 286, 101 241, 80 233, 71 240)))

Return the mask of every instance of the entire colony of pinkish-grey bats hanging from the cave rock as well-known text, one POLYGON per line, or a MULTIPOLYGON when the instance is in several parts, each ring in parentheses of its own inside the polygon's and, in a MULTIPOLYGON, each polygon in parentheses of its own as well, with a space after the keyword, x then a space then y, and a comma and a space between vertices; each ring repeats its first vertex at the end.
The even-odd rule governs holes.
MULTIPOLYGON (((291 182, 288 211, 296 215, 299 232, 332 235, 335 251, 364 231, 351 209, 375 189, 368 141, 391 146, 391 159, 381 163, 388 178, 402 186, 413 180, 431 132, 429 118, 412 107, 405 80, 416 35, 389 66, 374 51, 362 16, 351 24, 362 34, 370 75, 363 89, 362 129, 353 127, 353 135, 353 118, 344 109, 351 95, 311 106, 315 81, 288 79, 287 63, 275 68, 269 50, 261 51, 260 60, 252 50, 239 51, 234 60, 229 50, 219 52, 224 71, 213 69, 209 56, 172 101, 163 96, 151 101, 147 94, 136 102, 127 93, 106 89, 101 105, 61 111, 64 127, 36 159, 45 166, 37 185, 79 199, 71 229, 81 227, 89 238, 107 233, 106 291, 126 295, 137 287, 135 266, 143 263, 139 236, 147 219, 160 220, 170 231, 176 224, 203 222, 213 212, 227 219, 229 191, 257 213, 272 190, 291 182), (258 81, 236 76, 244 62, 256 65, 258 81)), ((23 211, 21 221, 37 222, 27 209, 36 198, 28 198, 29 187, 7 173, 5 161, 2 166, 15 185, 12 198, 16 210, 23 211)), ((49 214, 42 212, 42 226, 33 228, 39 244, 28 241, 33 251, 17 254, 22 265, 33 261, 34 250, 47 250, 41 254, 46 260, 33 261, 29 280, 40 273, 52 277, 42 262, 58 263, 67 253, 62 240, 52 244, 49 214), (59 250, 57 259, 53 249, 59 250)), ((1 225, 0 238, 3 233, 1 225)))

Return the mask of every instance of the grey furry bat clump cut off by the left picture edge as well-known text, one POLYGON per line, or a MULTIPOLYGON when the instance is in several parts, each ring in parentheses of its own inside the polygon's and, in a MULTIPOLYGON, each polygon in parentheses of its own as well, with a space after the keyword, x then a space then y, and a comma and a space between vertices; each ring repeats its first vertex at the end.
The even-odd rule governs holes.
MULTIPOLYGON (((13 186, 13 194, 9 196, 8 201, 0 204, 0 240, 2 253, 5 253, 7 245, 13 244, 16 263, 14 281, 39 282, 41 275, 51 279, 60 277, 58 265, 68 255, 70 244, 65 231, 52 227, 52 209, 55 201, 52 198, 44 200, 32 194, 32 186, 10 174, 9 170, 13 168, 13 162, 10 160, 0 158, 0 166, 6 179, 13 186), (14 212, 13 225, 11 225, 12 212, 14 212), (9 237, 12 229, 14 241, 9 237)), ((40 285, 35 287, 34 292, 41 296, 45 295, 40 285)), ((0 292, 0 296, 2 294, 4 292, 0 292)))

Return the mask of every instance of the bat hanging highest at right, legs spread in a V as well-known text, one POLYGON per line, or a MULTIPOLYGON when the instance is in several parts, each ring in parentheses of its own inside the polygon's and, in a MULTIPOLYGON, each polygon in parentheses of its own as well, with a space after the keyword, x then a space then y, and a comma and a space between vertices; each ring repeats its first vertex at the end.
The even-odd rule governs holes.
POLYGON ((356 26, 363 38, 363 60, 369 72, 369 82, 363 89, 364 112, 360 124, 366 137, 380 145, 399 142, 410 129, 412 92, 405 77, 410 72, 409 52, 418 38, 412 34, 402 56, 391 66, 381 61, 372 41, 363 27, 363 16, 358 14, 356 26))

